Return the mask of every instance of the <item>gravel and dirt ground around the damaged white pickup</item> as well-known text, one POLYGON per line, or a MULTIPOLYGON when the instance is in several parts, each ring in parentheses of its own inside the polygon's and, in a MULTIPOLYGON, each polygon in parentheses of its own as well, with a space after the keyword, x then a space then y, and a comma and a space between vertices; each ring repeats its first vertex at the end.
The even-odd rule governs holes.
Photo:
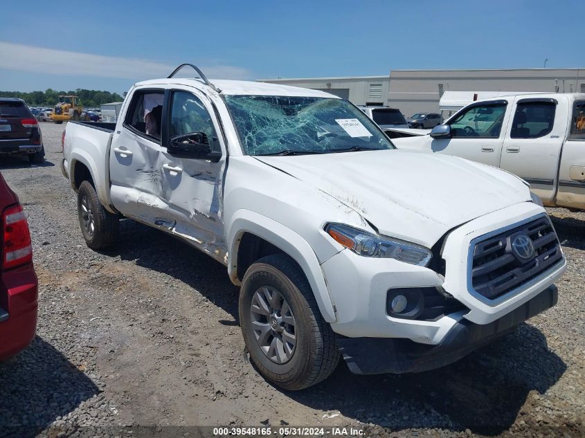
POLYGON ((42 124, 46 165, 0 161, 26 210, 40 295, 33 344, 0 364, 0 435, 267 424, 389 437, 585 435, 583 213, 550 209, 568 259, 559 304, 495 345, 422 374, 354 376, 340 363, 320 385, 284 392, 244 360, 237 288, 222 265, 132 221, 116 248, 85 246, 59 167, 62 129, 42 124))

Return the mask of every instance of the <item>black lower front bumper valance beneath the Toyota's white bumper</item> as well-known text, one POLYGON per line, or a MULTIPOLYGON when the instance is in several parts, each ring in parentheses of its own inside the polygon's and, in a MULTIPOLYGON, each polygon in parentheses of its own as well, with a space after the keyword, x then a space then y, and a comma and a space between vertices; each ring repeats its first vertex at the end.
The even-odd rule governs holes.
POLYGON ((354 374, 403 374, 423 372, 458 361, 479 347, 509 333, 521 322, 557 304, 557 287, 552 285, 486 325, 460 320, 438 345, 424 345, 408 339, 340 338, 337 340, 350 371, 354 374))

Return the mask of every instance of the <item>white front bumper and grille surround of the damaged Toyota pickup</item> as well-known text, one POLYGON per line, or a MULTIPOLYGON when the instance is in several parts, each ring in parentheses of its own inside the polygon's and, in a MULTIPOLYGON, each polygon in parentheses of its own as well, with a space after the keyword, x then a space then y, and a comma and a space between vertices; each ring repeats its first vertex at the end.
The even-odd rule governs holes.
POLYGON ((331 327, 348 338, 404 338, 415 343, 439 345, 453 327, 467 320, 489 325, 532 300, 564 273, 566 261, 494 300, 485 300, 469 283, 469 250, 477 237, 544 214, 534 203, 519 203, 489 213, 449 232, 441 257, 446 262, 444 277, 430 268, 397 262, 395 259, 361 257, 341 250, 327 259, 321 269, 327 279, 336 320, 331 327), (441 288, 467 309, 445 314, 436 320, 404 319, 386 311, 388 290, 399 288, 441 288))

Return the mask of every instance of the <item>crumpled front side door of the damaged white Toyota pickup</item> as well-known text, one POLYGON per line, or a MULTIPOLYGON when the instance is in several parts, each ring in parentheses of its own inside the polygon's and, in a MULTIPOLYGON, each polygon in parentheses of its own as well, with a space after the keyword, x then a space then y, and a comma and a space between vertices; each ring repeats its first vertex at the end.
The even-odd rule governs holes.
POLYGON ((174 217, 172 232, 193 246, 224 262, 223 179, 226 145, 215 111, 208 98, 195 90, 170 91, 167 107, 168 143, 161 152, 162 197, 174 217), (203 133, 211 152, 219 158, 172 154, 170 140, 186 134, 203 133))

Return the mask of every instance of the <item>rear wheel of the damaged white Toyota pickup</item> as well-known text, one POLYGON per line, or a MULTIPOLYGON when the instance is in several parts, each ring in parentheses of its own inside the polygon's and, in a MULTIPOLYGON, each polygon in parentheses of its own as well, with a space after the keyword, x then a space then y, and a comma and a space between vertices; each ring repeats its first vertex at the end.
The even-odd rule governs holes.
POLYGON ((93 250, 114 244, 120 232, 120 221, 103 208, 98 194, 89 181, 83 181, 78 191, 78 219, 85 243, 93 250))

